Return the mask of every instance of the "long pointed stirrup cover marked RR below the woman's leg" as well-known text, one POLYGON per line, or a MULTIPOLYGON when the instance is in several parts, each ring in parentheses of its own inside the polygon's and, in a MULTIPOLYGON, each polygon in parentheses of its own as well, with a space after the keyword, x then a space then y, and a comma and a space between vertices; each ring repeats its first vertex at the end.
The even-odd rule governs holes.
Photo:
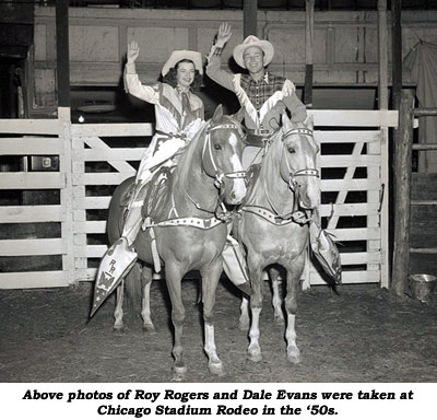
POLYGON ((105 253, 97 271, 94 301, 90 317, 95 314, 98 307, 105 302, 106 298, 113 293, 121 280, 132 269, 137 258, 138 254, 130 249, 126 237, 120 237, 105 253))

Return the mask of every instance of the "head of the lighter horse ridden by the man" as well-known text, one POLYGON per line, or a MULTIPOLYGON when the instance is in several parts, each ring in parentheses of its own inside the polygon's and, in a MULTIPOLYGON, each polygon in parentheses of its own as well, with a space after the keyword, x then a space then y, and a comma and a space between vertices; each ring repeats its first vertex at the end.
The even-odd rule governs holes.
POLYGON ((320 203, 319 171, 316 170, 319 147, 312 137, 312 129, 311 116, 304 122, 292 122, 286 114, 282 116, 281 176, 304 209, 315 209, 320 203))

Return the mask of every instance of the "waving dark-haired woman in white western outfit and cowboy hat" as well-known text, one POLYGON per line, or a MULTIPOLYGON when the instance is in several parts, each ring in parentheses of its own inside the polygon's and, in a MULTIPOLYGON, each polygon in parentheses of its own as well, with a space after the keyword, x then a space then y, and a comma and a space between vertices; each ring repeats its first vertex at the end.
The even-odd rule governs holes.
POLYGON ((98 282, 104 272, 115 279, 121 278, 137 259, 131 249, 141 226, 141 207, 144 199, 142 188, 162 166, 177 163, 186 144, 202 128, 204 107, 192 91, 199 90, 203 73, 202 56, 198 51, 173 51, 162 70, 163 82, 154 85, 141 83, 135 60, 138 43, 128 45, 125 68, 125 88, 128 93, 155 106, 156 127, 150 147, 144 152, 137 173, 135 188, 128 205, 121 241, 117 241, 104 255, 97 272, 98 282), (117 264, 113 264, 114 260, 117 264))

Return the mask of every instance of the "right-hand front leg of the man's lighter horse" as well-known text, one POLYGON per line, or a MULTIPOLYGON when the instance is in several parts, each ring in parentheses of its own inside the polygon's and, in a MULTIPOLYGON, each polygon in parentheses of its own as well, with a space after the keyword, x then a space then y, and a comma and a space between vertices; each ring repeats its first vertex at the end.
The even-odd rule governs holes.
POLYGON ((297 314, 297 294, 299 292, 299 279, 304 270, 305 253, 302 254, 293 264, 287 268, 287 291, 285 296, 285 311, 287 314, 287 325, 285 330, 285 338, 287 342, 287 360, 291 363, 299 363, 300 350, 296 345, 296 314, 297 314))

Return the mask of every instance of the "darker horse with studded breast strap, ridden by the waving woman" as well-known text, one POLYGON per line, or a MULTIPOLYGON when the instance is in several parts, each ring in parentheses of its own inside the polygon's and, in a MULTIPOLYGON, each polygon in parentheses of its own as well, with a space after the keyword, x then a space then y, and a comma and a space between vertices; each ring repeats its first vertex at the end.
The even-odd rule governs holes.
MULTIPOLYGON (((150 265, 156 265, 156 252, 164 262, 175 327, 174 370, 178 374, 186 372, 181 343, 185 319, 181 280, 191 270, 199 270, 202 277, 204 351, 209 358, 209 369, 215 374, 221 374, 223 370, 215 348, 213 308, 216 285, 223 270, 222 252, 227 224, 217 219, 217 208, 223 208, 223 201, 237 205, 246 195, 245 173, 240 163, 243 136, 240 125, 224 116, 222 106, 218 106, 213 118, 191 140, 170 175, 167 191, 169 199, 158 209, 161 217, 152 219, 145 229, 143 226, 133 244, 139 259, 149 265, 142 270, 145 284, 141 315, 146 330, 154 330, 149 299, 152 281, 150 265)), ((133 178, 123 182, 113 196, 108 218, 111 242, 120 236, 123 213, 120 199, 132 182, 133 178)), ((122 327, 122 294, 120 284, 115 328, 122 327)))

